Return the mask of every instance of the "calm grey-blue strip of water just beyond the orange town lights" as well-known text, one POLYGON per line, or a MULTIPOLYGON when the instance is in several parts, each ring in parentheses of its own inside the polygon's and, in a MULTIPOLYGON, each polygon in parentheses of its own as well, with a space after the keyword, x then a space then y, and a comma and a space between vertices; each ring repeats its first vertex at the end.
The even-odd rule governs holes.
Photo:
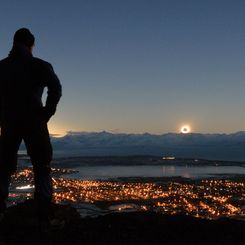
POLYGON ((240 166, 81 166, 69 178, 81 180, 108 179, 119 177, 176 177, 199 178, 216 174, 245 174, 240 166))

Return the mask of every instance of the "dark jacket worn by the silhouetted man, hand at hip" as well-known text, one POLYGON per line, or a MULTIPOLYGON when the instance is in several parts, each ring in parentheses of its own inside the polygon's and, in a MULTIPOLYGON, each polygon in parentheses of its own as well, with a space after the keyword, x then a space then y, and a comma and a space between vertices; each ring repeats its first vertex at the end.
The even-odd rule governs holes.
POLYGON ((22 124, 55 113, 61 85, 52 65, 35 58, 24 46, 15 46, 0 61, 0 125, 22 124), (47 87, 45 106, 42 94, 47 87))

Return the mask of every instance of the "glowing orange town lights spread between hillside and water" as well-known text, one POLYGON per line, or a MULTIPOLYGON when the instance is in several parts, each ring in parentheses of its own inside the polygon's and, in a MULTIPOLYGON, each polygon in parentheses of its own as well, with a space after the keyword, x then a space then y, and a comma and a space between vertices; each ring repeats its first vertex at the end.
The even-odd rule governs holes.
MULTIPOLYGON (((166 214, 186 214, 215 219, 219 217, 245 217, 245 183, 233 180, 193 181, 90 181, 59 177, 67 170, 53 169, 54 201, 56 203, 93 203, 98 207, 132 203, 138 210, 166 214)), ((32 171, 25 169, 14 177, 13 186, 31 185, 32 171)), ((12 198, 30 197, 30 192, 12 191, 12 198), (14 196, 13 196, 14 195, 14 196)), ((21 189, 21 188, 19 188, 21 189)), ((24 189, 25 190, 25 189, 24 189)), ((119 206, 118 210, 122 208, 119 206)))

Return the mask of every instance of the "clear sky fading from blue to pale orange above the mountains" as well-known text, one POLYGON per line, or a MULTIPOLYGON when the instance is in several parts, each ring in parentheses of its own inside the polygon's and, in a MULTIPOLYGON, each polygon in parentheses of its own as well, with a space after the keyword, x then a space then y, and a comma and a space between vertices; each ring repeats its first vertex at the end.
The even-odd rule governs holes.
POLYGON ((53 133, 245 130, 244 0, 7 0, 0 58, 36 36, 63 97, 53 133))

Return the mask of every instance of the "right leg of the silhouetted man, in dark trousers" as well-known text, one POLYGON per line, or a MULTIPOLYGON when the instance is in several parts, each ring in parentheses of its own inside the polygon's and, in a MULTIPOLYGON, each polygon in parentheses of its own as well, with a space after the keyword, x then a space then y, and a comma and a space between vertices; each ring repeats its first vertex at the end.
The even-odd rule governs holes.
POLYGON ((24 136, 27 152, 31 158, 34 171, 35 193, 38 214, 45 218, 49 215, 52 201, 52 178, 50 162, 52 146, 46 124, 28 130, 24 136))

